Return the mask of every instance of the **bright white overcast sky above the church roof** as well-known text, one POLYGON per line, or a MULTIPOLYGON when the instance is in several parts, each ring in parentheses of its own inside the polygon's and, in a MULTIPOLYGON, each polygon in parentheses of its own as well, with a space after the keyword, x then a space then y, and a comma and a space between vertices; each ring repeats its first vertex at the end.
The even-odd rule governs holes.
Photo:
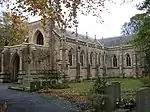
MULTIPOLYGON (((140 13, 136 10, 135 5, 139 3, 139 1, 143 0, 134 0, 134 2, 130 2, 128 4, 120 5, 120 1, 122 0, 114 0, 116 4, 107 3, 108 11, 104 11, 101 16, 104 23, 97 23, 96 18, 92 16, 83 16, 79 15, 79 27, 78 33, 86 34, 94 38, 96 35, 97 38, 107 38, 121 35, 121 26, 130 20, 132 16, 137 13, 140 13)), ((38 20, 38 17, 31 18, 30 21, 38 20)))

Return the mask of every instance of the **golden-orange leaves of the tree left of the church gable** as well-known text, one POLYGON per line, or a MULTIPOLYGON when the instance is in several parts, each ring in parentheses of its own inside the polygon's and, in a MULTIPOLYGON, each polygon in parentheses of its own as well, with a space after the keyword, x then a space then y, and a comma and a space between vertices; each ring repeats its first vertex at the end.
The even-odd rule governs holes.
POLYGON ((28 34, 28 22, 23 16, 16 13, 4 12, 3 25, 11 32, 9 35, 9 45, 19 44, 23 38, 28 34))

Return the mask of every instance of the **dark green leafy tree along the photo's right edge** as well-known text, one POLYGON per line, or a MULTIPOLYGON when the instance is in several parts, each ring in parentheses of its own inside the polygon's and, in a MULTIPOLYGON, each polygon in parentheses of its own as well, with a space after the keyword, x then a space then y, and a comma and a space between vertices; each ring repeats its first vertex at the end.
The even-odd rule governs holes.
MULTIPOLYGON (((146 58, 146 63, 148 68, 150 67, 150 1, 144 0, 137 7, 138 10, 145 11, 146 15, 144 16, 143 21, 139 26, 139 30, 135 35, 135 39, 133 41, 134 45, 140 48, 146 58)), ((149 71, 150 72, 150 71, 149 71)))

